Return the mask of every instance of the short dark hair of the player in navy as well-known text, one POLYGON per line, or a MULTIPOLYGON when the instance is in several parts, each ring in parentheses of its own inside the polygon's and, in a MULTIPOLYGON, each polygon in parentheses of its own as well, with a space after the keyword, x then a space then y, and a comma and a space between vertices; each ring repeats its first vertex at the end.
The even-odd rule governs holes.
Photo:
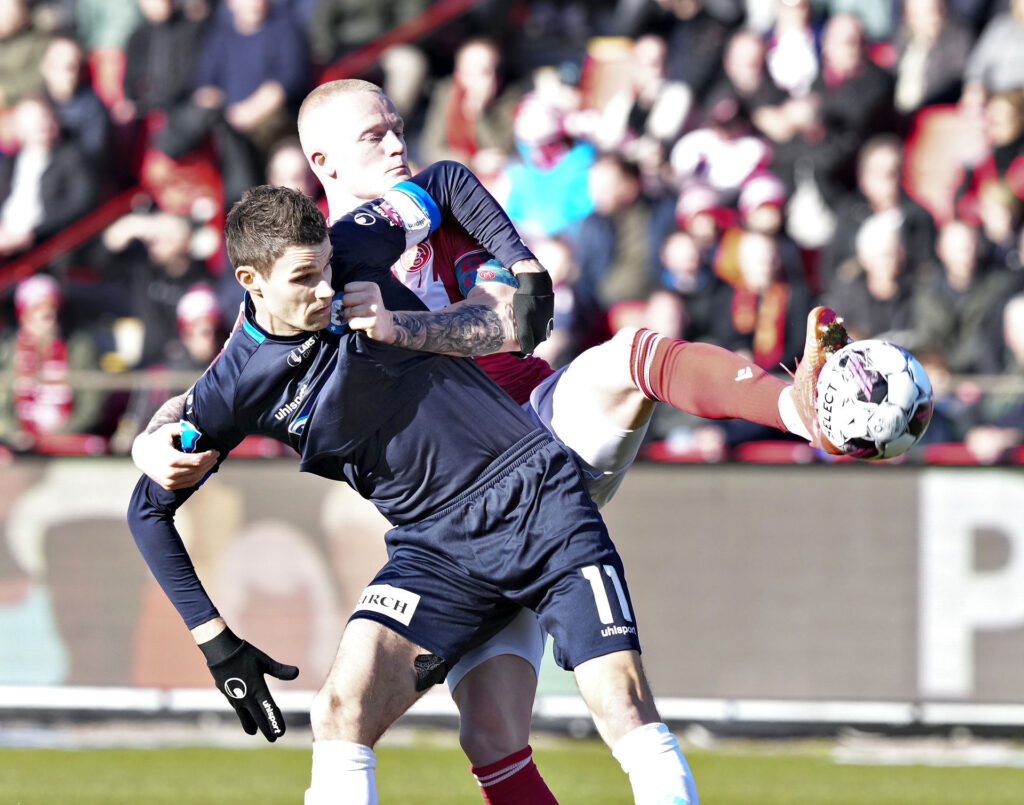
POLYGON ((224 223, 231 265, 251 265, 264 277, 290 246, 319 246, 326 237, 327 221, 312 199, 270 184, 246 190, 224 223))

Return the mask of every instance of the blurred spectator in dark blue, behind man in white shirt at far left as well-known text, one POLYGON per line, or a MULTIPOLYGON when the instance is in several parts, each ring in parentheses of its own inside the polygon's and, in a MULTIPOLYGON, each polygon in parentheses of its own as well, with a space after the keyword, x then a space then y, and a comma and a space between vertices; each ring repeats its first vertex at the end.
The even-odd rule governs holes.
POLYGON ((106 107, 85 80, 82 46, 68 36, 55 36, 46 46, 39 66, 46 96, 53 104, 60 128, 93 165, 106 166, 111 119, 106 107))

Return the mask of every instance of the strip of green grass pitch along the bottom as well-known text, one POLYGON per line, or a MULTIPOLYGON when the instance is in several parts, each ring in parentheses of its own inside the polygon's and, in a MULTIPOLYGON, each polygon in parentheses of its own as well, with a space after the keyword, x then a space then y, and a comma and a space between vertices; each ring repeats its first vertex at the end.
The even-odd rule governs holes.
MULTIPOLYGON (((631 803, 596 740, 542 740, 535 757, 562 805, 631 803)), ((846 766, 826 752, 687 752, 703 805, 1020 805, 1024 770, 846 766)), ((2 805, 297 805, 307 750, 0 750, 2 805)), ((382 803, 479 805, 458 749, 429 742, 379 752, 382 803)))

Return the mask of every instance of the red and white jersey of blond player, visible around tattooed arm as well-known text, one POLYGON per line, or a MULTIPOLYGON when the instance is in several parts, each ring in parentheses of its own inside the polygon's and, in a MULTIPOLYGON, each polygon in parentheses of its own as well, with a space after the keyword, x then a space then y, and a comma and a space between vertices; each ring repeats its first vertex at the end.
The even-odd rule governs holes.
MULTIPOLYGON (((445 222, 426 241, 402 254, 391 266, 391 273, 429 309, 439 310, 466 298, 472 287, 468 274, 489 259, 490 255, 462 227, 445 222)), ((554 371, 547 361, 534 355, 499 352, 475 359, 519 404, 529 399, 529 392, 554 371)))

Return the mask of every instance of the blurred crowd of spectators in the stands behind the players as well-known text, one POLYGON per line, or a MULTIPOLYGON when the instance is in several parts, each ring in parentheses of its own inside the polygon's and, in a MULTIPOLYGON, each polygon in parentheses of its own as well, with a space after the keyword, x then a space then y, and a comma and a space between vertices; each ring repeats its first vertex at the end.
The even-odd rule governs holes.
POLYGON ((0 0, 0 442, 123 452, 207 365, 240 299, 224 210, 321 200, 295 115, 354 65, 414 165, 472 167, 551 271, 553 365, 640 325, 782 372, 824 303, 925 364, 924 447, 1021 443, 1024 0, 481 0, 353 59, 431 5, 0 0))

